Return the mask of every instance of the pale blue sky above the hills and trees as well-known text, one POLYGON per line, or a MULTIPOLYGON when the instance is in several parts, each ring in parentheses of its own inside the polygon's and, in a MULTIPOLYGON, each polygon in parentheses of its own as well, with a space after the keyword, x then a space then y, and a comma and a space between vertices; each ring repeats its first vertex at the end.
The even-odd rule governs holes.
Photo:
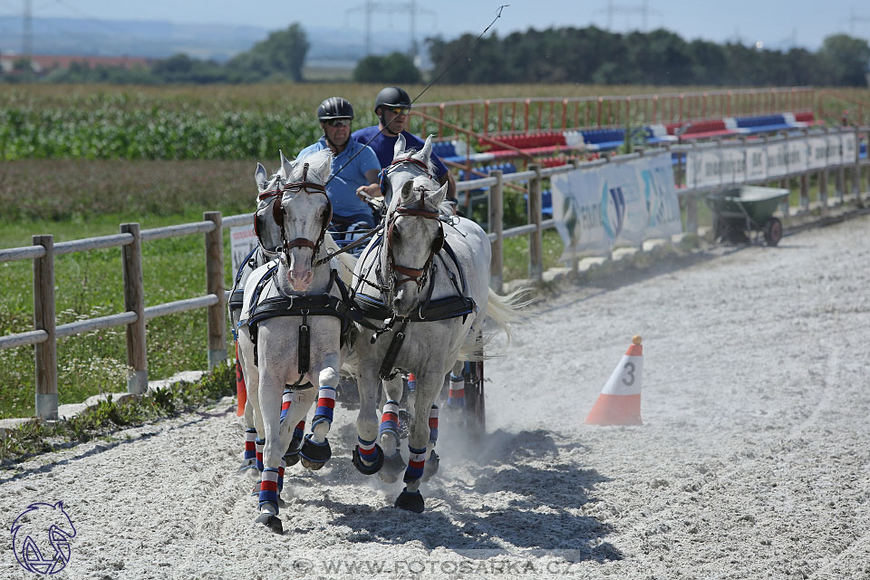
MULTIPOLYGON (((26 0, 0 0, 0 15, 20 15, 26 0)), ((686 40, 792 45, 816 50, 828 34, 870 39, 870 3, 865 0, 30 0, 34 17, 102 20, 162 20, 184 24, 249 24, 281 29, 294 22, 314 26, 364 28, 363 6, 374 5, 372 31, 408 34, 409 12, 419 15, 420 37, 479 34, 510 4, 493 26, 504 35, 529 27, 585 27, 614 32, 664 27, 686 40), (392 6, 388 12, 385 7, 392 6), (613 8, 608 10, 608 6, 613 8), (398 8, 398 9, 397 9, 398 8), (437 10, 436 10, 437 8, 437 10), (435 14, 437 11, 437 14, 435 14)))

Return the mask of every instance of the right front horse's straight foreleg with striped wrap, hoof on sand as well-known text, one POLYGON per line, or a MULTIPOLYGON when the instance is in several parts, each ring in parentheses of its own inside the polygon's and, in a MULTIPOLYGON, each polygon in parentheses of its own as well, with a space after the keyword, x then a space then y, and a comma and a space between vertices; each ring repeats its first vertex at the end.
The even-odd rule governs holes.
POLYGON ((444 375, 438 372, 423 372, 417 375, 417 406, 411 421, 408 437, 408 469, 405 469, 405 488, 396 499, 396 507, 416 513, 423 511, 420 495, 420 478, 426 466, 426 451, 430 442, 429 416, 432 403, 440 392, 444 375))

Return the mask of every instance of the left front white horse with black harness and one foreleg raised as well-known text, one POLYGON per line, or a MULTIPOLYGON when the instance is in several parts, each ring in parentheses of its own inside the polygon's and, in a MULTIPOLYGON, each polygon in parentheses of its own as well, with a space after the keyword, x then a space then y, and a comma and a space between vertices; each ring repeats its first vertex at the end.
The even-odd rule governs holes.
POLYGON ((254 427, 264 440, 256 522, 277 533, 282 531, 278 494, 291 429, 315 398, 312 432, 299 455, 309 469, 320 469, 331 456, 326 434, 343 362, 342 337, 349 326, 347 296, 324 245, 332 206, 323 184, 332 156, 324 150, 295 161, 282 155, 281 162, 272 179, 257 165, 260 198, 275 196, 271 207, 280 229, 279 259, 248 277, 237 339, 254 427), (289 394, 285 385, 290 385, 289 394))

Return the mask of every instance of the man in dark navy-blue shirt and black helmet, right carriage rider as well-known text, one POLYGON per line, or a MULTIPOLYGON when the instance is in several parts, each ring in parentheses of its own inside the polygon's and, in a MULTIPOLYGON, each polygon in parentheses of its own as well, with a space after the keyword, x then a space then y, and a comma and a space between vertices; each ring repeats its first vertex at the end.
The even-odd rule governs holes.
MULTIPOLYGON (((423 147, 423 140, 405 131, 409 111, 411 111, 411 97, 408 93, 399 87, 386 87, 378 93, 374 101, 374 114, 378 116, 380 122, 372 127, 353 131, 351 139, 368 144, 378 156, 381 167, 390 167, 392 153, 400 133, 404 135, 406 147, 409 149, 420 150, 423 147)), ((431 155, 431 160, 435 166, 435 179, 438 179, 441 185, 448 184, 447 198, 455 201, 456 181, 453 175, 434 153, 431 155)), ((366 192, 371 194, 372 189, 366 188, 366 192)))

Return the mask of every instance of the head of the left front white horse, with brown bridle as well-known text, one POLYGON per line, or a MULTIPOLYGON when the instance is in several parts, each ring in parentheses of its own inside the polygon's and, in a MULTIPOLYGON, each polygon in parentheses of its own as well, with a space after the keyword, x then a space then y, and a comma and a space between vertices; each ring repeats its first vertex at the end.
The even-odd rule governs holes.
POLYGON ((272 179, 266 179, 266 170, 257 164, 255 179, 260 190, 257 216, 264 226, 263 235, 258 229, 257 237, 264 246, 276 242, 287 282, 295 291, 304 291, 314 279, 314 258, 332 218, 333 207, 324 187, 332 160, 329 150, 295 161, 288 161, 281 154, 281 169, 272 179))

